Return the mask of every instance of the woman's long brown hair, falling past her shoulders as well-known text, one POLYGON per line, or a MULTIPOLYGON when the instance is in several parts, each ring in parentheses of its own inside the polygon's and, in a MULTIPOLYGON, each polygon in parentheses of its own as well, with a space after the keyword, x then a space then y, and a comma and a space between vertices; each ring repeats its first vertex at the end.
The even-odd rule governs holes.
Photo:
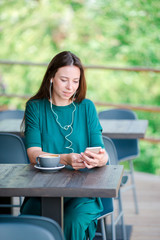
POLYGON ((87 90, 86 79, 84 75, 84 68, 82 66, 80 59, 69 51, 58 53, 51 60, 46 70, 46 73, 43 77, 43 81, 41 83, 41 86, 38 92, 33 97, 31 97, 28 101, 33 99, 43 99, 43 98, 49 99, 50 98, 49 87, 50 87, 51 78, 54 78, 59 68, 64 66, 70 66, 70 65, 76 66, 80 69, 80 82, 75 95, 75 101, 81 102, 85 98, 86 90, 87 90))

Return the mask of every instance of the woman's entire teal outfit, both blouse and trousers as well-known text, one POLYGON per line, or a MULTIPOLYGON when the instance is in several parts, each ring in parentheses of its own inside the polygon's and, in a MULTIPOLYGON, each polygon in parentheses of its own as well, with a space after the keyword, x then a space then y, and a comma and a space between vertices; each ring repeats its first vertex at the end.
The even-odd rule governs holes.
MULTIPOLYGON (((76 111, 73 119, 73 132, 68 137, 75 153, 84 152, 86 147, 101 146, 102 127, 99 123, 94 104, 84 99, 75 103, 76 111)), ((58 115, 61 126, 70 125, 74 105, 55 106, 54 112, 58 115)), ((62 129, 55 120, 47 99, 29 101, 25 112, 26 148, 41 147, 50 153, 71 153, 66 147, 70 143, 65 136, 70 133, 62 129)), ((22 214, 40 214, 40 199, 31 198, 23 207, 22 214)), ((93 239, 96 232, 97 217, 103 211, 100 198, 65 198, 64 199, 64 234, 66 240, 93 239), (73 220, 73 219, 77 220, 73 220)))

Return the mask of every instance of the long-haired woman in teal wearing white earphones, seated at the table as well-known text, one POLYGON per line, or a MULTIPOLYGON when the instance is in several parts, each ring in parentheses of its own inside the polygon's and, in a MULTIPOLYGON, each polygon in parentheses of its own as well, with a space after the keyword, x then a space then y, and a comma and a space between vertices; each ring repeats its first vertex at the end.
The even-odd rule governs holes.
MULTIPOLYGON (((60 163, 75 170, 107 163, 96 109, 85 96, 80 59, 68 51, 57 54, 48 65, 39 91, 26 104, 25 141, 31 163, 45 153, 60 154, 60 163), (99 153, 85 151, 95 146, 102 147, 99 153)), ((40 215, 40 209, 40 198, 27 198, 21 213, 40 215)), ((100 198, 65 198, 66 240, 93 239, 102 210, 100 198)))

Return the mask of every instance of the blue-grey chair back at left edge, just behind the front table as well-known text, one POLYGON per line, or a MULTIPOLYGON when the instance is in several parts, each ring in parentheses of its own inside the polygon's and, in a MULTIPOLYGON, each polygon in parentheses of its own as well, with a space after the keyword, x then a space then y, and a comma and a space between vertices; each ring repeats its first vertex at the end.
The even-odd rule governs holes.
POLYGON ((11 133, 0 133, 0 163, 29 163, 22 139, 11 133))

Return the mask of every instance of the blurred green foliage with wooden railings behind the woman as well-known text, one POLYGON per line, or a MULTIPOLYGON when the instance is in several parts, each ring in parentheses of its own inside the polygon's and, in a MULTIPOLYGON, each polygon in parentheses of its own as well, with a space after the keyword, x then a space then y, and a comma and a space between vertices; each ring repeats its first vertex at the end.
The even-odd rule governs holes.
POLYGON ((0 0, 0 110, 24 109, 52 57, 72 51, 85 66, 87 98, 97 111, 122 104, 148 119, 134 167, 160 175, 159 6, 159 0, 0 0))

